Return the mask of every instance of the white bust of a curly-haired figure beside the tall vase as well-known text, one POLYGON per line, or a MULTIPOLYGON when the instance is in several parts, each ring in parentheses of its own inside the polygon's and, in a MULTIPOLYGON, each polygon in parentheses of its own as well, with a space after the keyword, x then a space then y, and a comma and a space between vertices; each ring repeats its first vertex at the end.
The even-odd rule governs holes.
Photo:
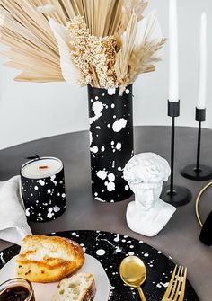
POLYGON ((160 199, 163 181, 170 175, 168 162, 154 153, 134 155, 123 174, 135 201, 128 204, 128 227, 146 236, 157 235, 172 217, 176 208, 160 199))

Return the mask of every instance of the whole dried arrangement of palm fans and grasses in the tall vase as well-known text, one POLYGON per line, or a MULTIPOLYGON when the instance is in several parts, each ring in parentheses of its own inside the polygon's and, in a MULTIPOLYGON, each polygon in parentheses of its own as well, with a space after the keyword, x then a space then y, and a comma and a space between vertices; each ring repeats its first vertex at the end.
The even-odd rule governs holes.
POLYGON ((1 0, 0 41, 17 81, 101 88, 155 70, 165 39, 146 0, 1 0))

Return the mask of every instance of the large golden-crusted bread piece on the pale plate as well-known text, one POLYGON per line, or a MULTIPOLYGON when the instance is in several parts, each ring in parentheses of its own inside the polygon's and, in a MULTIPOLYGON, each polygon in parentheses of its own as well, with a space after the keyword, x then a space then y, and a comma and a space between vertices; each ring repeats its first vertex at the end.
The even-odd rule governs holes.
POLYGON ((78 243, 59 236, 27 235, 17 263, 17 277, 32 282, 54 282, 70 276, 84 264, 78 243))

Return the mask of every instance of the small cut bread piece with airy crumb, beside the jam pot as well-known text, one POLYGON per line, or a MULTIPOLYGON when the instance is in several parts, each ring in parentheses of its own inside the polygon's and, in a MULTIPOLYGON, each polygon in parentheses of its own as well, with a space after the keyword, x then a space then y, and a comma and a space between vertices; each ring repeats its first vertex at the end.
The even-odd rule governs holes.
POLYGON ((52 301, 93 301, 95 281, 91 273, 77 273, 58 284, 57 295, 52 301))

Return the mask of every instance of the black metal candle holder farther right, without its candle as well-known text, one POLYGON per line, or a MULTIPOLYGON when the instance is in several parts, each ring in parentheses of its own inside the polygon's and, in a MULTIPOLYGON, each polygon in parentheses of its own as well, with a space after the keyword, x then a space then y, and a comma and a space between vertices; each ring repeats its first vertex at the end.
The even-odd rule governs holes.
POLYGON ((206 109, 196 108, 196 121, 199 122, 198 130, 198 147, 197 147, 197 162, 183 167, 180 171, 184 178, 194 181, 207 181, 212 179, 212 167, 199 164, 200 148, 201 148, 201 123, 206 120, 206 109))

